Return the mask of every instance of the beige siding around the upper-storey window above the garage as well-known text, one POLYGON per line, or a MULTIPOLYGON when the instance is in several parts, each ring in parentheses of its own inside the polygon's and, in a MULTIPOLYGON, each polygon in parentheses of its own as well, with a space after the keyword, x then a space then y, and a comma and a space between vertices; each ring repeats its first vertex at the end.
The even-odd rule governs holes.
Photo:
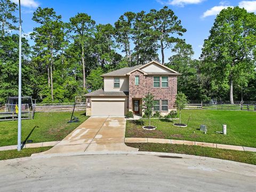
POLYGON ((104 77, 104 91, 129 91, 129 78, 119 77, 120 87, 114 88, 114 77, 104 77))

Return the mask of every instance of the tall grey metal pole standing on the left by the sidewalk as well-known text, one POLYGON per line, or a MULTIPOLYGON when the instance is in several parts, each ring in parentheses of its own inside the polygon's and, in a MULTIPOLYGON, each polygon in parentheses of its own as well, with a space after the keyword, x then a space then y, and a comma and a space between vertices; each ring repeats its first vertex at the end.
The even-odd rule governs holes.
POLYGON ((20 36, 19 36, 19 99, 18 99, 18 151, 21 150, 21 11, 19 0, 19 15, 20 15, 20 36))

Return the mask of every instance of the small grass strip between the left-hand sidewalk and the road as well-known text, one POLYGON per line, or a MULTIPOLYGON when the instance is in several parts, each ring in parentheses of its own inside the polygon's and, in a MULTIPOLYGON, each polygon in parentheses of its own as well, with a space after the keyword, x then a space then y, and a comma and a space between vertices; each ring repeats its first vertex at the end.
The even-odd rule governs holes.
POLYGON ((16 149, 0 151, 0 160, 29 157, 31 154, 41 153, 49 149, 51 149, 51 147, 25 148, 22 149, 21 151, 17 151, 16 149))

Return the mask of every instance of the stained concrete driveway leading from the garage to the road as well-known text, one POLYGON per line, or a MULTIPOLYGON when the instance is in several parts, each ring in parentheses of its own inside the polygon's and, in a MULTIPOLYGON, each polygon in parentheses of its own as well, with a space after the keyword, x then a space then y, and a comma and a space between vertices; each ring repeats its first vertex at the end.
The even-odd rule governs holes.
POLYGON ((41 154, 80 153, 84 151, 138 151, 124 143, 124 117, 90 117, 58 145, 41 154))

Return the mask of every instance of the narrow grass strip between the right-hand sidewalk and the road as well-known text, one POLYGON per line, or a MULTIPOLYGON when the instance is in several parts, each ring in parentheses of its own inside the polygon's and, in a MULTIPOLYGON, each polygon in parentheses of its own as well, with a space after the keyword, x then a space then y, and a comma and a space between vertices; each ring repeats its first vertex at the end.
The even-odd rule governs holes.
POLYGON ((163 153, 178 153, 227 159, 230 161, 256 165, 256 153, 210 147, 172 145, 163 143, 125 143, 127 146, 139 148, 140 151, 156 151, 163 153))

